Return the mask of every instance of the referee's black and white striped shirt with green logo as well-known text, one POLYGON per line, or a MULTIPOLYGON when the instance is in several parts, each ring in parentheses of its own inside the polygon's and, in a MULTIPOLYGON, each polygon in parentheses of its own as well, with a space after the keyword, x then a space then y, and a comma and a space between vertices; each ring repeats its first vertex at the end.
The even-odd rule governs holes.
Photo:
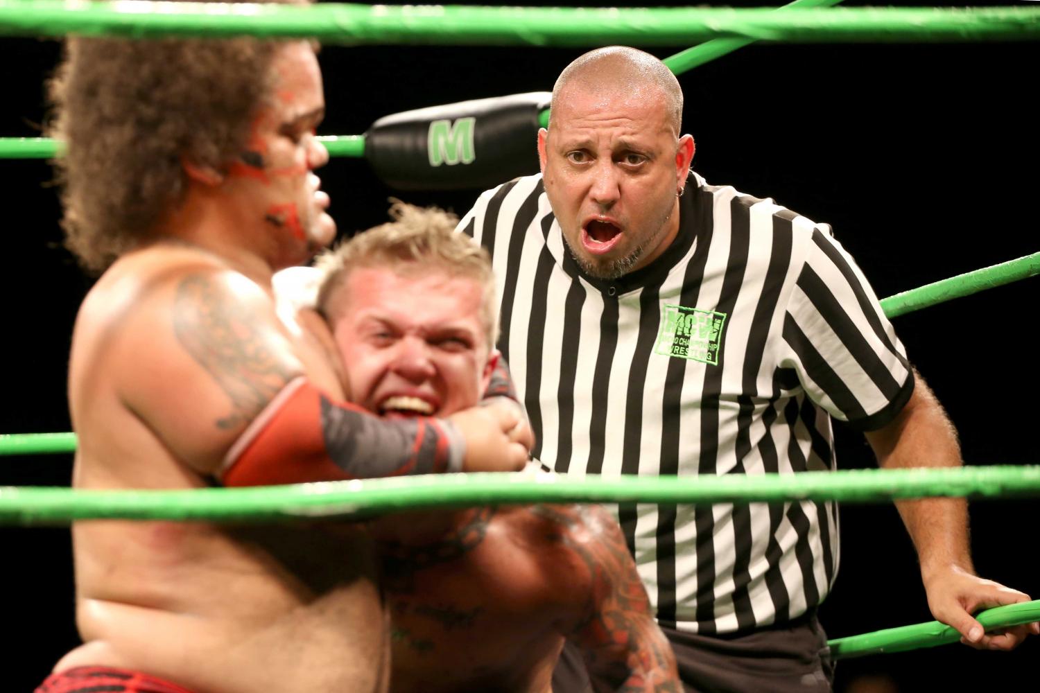
MULTIPOLYGON (((535 456, 577 476, 834 469, 830 417, 877 428, 909 398, 902 344, 829 226, 690 183, 677 239, 615 281, 578 269, 540 176, 484 193, 460 222, 494 260, 535 456)), ((837 570, 831 503, 617 509, 664 625, 782 622, 837 570)))

